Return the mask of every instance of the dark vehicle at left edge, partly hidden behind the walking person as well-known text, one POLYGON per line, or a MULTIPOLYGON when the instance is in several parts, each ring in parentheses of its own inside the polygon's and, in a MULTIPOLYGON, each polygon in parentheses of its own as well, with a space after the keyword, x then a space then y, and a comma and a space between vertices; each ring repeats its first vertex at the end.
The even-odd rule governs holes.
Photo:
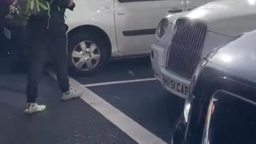
POLYGON ((14 0, 2 0, 0 2, 0 52, 8 54, 12 66, 27 62, 28 45, 26 40, 26 28, 22 26, 10 26, 6 22, 10 5, 14 0))

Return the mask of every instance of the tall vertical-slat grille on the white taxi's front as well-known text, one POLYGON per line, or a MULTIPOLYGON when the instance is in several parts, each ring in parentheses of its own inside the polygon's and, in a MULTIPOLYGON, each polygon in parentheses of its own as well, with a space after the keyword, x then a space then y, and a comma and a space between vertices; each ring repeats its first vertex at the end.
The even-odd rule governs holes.
POLYGON ((206 25, 179 19, 167 54, 166 69, 185 78, 192 78, 200 62, 206 37, 206 25))

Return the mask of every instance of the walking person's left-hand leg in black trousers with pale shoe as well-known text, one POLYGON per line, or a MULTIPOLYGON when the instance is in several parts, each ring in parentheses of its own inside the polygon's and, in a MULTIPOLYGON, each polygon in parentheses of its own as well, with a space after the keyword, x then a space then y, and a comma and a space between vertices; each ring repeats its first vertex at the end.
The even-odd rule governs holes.
POLYGON ((38 80, 43 67, 45 66, 48 53, 46 44, 43 42, 33 42, 33 46, 30 48, 30 61, 26 86, 28 105, 26 106, 25 112, 27 114, 33 114, 46 109, 46 106, 39 106, 36 104, 36 98, 38 97, 38 80))

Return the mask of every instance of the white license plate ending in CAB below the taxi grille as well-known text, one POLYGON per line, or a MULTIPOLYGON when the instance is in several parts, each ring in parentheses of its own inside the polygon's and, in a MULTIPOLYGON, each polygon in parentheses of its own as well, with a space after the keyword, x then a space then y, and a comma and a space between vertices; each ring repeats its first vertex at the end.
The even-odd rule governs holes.
POLYGON ((185 98, 189 94, 189 86, 177 82, 172 78, 167 78, 164 74, 162 75, 162 86, 166 87, 167 90, 170 90, 174 94, 178 94, 185 98))

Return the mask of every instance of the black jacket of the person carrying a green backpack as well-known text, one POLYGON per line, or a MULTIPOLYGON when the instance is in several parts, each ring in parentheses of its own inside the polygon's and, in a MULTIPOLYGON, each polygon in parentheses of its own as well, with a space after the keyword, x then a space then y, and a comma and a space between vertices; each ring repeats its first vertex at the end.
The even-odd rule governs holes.
MULTIPOLYGON (((49 0, 50 1, 50 0, 49 0)), ((62 28, 65 24, 65 11, 69 8, 70 0, 54 0, 50 6, 50 18, 46 15, 44 18, 30 17, 29 26, 35 26, 38 29, 56 30, 62 28)))

